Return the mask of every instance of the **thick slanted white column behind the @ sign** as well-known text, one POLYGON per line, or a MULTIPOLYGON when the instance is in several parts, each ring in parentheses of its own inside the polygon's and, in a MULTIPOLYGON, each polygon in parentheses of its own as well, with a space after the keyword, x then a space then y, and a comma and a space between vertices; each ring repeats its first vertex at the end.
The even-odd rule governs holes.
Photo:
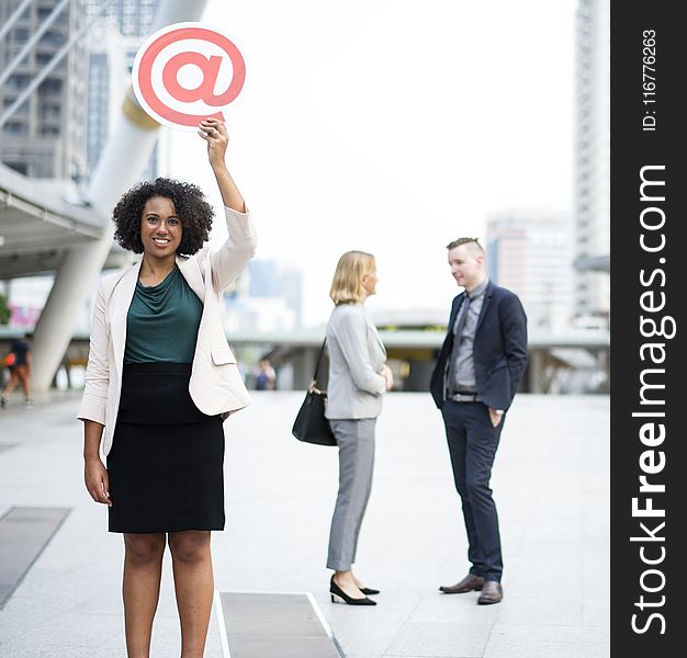
MULTIPOLYGON (((206 0, 164 0, 154 31, 171 23, 199 21, 205 4, 206 0)), ((102 236, 98 241, 75 247, 66 254, 36 325, 32 377, 32 388, 36 393, 49 388, 71 340, 75 318, 98 286, 99 274, 112 247, 112 208, 138 181, 157 139, 158 127, 129 92, 87 194, 93 212, 102 219, 102 236)))

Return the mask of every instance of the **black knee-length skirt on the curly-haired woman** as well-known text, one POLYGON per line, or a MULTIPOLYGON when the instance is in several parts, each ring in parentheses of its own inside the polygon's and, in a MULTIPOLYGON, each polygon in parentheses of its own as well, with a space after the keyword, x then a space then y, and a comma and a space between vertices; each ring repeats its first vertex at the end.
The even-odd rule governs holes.
POLYGON ((190 363, 124 365, 110 532, 224 530, 224 429, 189 395, 190 363))

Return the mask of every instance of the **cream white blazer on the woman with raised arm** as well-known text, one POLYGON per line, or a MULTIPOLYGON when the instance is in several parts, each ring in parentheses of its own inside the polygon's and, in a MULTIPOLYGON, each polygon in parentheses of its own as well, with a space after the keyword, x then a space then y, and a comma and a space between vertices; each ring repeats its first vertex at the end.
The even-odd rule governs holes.
MULTIPOLYGON (((219 316, 219 293, 234 281, 256 252, 256 231, 248 214, 225 208, 229 237, 217 251, 205 246, 177 265, 203 303, 189 393, 209 416, 228 415, 250 402, 244 379, 227 342, 219 316)), ((140 263, 102 280, 95 299, 86 388, 80 420, 105 427, 102 453, 108 455, 116 424, 126 345, 126 316, 138 281, 140 263)))

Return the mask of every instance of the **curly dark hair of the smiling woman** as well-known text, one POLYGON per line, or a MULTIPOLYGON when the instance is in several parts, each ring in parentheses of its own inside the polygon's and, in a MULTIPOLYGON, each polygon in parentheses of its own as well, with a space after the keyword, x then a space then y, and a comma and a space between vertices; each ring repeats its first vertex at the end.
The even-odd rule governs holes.
POLYGON ((200 251, 210 237, 215 213, 198 185, 166 178, 138 183, 124 193, 112 212, 114 239, 124 249, 143 253, 140 216, 153 196, 170 198, 181 219, 182 236, 177 253, 192 256, 200 251))

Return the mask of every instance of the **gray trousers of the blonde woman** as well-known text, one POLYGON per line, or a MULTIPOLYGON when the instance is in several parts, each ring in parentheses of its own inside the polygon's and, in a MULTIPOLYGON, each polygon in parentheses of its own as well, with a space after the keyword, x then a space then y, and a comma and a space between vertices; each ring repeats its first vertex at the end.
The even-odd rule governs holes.
POLYGON ((356 561, 362 518, 372 488, 376 418, 330 420, 339 444, 339 494, 331 518, 327 568, 348 571, 356 561))

